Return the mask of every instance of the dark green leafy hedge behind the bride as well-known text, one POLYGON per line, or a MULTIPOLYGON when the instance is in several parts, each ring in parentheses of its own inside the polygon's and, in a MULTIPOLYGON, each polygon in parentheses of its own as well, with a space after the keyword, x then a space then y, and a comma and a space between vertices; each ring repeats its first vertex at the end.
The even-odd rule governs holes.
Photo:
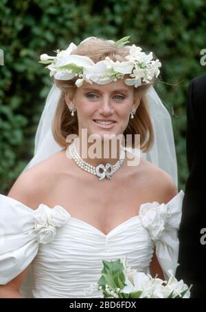
POLYGON ((0 192, 7 194, 34 152, 34 134, 51 85, 38 63, 43 53, 66 49, 91 36, 152 50, 163 66, 157 84, 172 123, 179 165, 179 189, 185 189, 187 86, 205 73, 200 52, 206 48, 205 0, 0 0, 0 192))

